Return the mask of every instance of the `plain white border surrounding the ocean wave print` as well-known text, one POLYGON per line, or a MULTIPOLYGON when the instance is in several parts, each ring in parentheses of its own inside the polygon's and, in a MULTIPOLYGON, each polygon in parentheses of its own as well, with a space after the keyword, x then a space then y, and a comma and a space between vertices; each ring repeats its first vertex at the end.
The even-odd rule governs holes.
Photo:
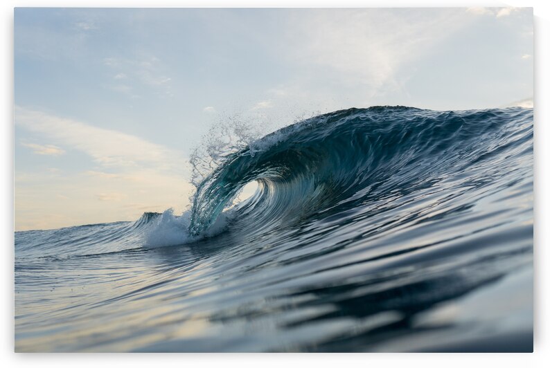
MULTIPOLYGON (((200 365, 224 367, 280 367, 292 362, 312 367, 343 367, 358 364, 370 367, 543 367, 548 359, 548 284, 547 267, 550 219, 548 216, 548 192, 550 182, 547 163, 550 162, 548 140, 550 113, 547 101, 550 65, 550 12, 548 1, 358 1, 358 0, 78 0, 78 1, 2 1, 1 43, 3 98, 1 108, 3 120, 1 134, 2 149, 2 208, 1 233, 3 247, 3 282, 1 314, 1 361, 4 367, 96 367, 96 365, 131 364, 132 367, 181 367, 200 365), (535 13, 535 353, 533 354, 15 354, 13 353, 13 8, 33 7, 468 7, 468 6, 529 6, 535 13), (7 365, 6 365, 7 363, 7 365)), ((546 363, 547 366, 548 363, 546 363)))

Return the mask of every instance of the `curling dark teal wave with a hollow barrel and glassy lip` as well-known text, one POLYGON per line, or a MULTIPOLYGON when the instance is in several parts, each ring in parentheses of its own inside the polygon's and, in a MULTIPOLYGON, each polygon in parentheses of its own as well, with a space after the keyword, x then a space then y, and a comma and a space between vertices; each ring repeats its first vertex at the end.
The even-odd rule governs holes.
POLYGON ((251 181, 256 194, 233 215, 249 234, 460 176, 518 137, 507 124, 530 118, 531 110, 519 108, 371 107, 303 120, 226 156, 197 186, 185 236, 200 237, 251 181))

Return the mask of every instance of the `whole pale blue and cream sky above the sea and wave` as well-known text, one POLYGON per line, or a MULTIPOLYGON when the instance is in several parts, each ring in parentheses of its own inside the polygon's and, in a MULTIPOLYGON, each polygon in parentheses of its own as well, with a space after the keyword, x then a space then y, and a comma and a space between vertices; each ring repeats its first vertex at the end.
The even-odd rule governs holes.
POLYGON ((533 104, 531 8, 16 8, 14 36, 15 230, 181 213, 228 120, 533 104))

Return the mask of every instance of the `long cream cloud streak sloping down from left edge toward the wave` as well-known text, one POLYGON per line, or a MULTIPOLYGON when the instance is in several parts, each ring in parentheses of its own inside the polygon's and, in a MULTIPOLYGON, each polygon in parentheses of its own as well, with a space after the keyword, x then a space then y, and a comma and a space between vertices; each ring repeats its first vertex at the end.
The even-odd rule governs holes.
MULTIPOLYGON (((181 169, 181 154, 143 138, 121 131, 87 125, 76 120, 60 118, 40 111, 21 107, 15 109, 17 125, 42 134, 66 147, 77 149, 91 156, 105 167, 155 167, 161 170, 181 169)), ((59 152, 56 146, 27 146, 45 152, 59 152)))

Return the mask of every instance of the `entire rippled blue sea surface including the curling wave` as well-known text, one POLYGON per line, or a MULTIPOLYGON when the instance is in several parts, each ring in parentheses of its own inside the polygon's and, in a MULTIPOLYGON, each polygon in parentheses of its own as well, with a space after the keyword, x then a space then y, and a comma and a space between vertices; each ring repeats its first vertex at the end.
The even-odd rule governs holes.
POLYGON ((335 111, 181 216, 16 232, 15 349, 532 351, 533 109, 335 111))

